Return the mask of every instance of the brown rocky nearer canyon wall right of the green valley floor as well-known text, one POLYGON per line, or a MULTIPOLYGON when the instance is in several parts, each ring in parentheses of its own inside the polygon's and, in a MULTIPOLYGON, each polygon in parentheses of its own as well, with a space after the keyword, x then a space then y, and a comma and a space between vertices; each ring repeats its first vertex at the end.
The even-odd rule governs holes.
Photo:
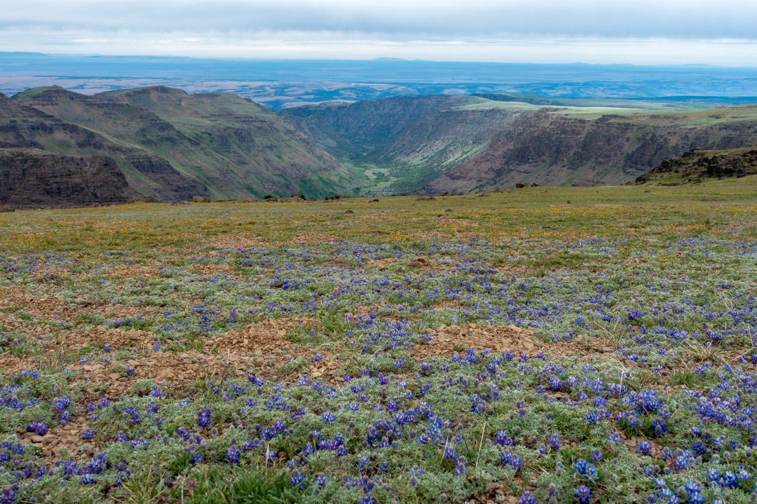
MULTIPOLYGON (((648 114, 648 113, 646 113, 648 114)), ((578 119, 525 111, 484 152, 426 184, 422 192, 542 185, 622 184, 691 149, 757 143, 757 107, 578 119)))

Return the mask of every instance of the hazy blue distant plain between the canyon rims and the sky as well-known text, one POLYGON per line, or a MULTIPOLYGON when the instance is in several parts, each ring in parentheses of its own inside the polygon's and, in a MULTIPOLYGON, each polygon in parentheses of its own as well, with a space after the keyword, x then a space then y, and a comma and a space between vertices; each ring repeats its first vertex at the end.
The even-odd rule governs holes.
POLYGON ((430 60, 254 60, 0 52, 0 91, 61 85, 85 94, 145 85, 234 92, 274 110, 329 100, 413 94, 751 103, 757 68, 430 60))

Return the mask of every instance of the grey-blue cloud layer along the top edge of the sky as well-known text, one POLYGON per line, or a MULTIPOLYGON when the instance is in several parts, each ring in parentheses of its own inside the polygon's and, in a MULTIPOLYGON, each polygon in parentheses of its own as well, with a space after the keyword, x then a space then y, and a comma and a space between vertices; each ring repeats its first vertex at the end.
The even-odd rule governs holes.
POLYGON ((300 32, 311 39, 664 37, 753 39, 757 2, 515 0, 510 2, 16 2, 0 27, 61 31, 241 34, 300 32))

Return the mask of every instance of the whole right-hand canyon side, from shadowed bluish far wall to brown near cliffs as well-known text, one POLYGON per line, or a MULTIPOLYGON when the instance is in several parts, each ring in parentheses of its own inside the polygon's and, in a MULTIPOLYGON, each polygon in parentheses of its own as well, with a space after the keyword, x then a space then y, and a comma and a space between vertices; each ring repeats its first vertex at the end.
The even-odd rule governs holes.
POLYGON ((757 142, 757 106, 661 111, 583 101, 591 106, 516 95, 403 97, 281 115, 341 162, 383 170, 385 182, 363 193, 622 184, 693 148, 757 142))

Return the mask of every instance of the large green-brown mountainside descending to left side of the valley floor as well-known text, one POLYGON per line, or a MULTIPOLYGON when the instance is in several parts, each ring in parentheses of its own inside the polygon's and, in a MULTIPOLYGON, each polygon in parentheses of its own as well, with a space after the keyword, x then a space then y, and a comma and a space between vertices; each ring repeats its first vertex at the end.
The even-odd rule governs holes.
POLYGON ((148 110, 173 125, 194 144, 170 152, 177 169, 201 166, 226 196, 245 196, 242 188, 247 196, 301 192, 322 197, 362 181, 290 122, 249 98, 161 87, 110 91, 97 98, 148 110))

